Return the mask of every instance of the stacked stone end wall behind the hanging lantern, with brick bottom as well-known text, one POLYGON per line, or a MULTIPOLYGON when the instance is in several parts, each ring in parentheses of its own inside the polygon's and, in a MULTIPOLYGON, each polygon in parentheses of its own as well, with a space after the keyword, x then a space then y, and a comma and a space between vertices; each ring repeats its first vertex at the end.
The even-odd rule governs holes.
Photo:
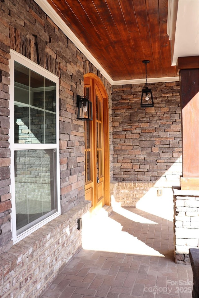
POLYGON ((179 82, 151 83, 154 107, 141 108, 143 84, 113 86, 115 200, 135 206, 151 187, 182 175, 179 82))

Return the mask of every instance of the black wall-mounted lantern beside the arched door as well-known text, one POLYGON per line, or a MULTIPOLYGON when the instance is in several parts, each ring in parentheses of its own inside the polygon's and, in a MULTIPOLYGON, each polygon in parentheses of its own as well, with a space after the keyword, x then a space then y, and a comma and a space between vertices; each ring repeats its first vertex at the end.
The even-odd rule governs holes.
POLYGON ((77 119, 79 120, 93 120, 92 102, 86 97, 77 95, 77 119))

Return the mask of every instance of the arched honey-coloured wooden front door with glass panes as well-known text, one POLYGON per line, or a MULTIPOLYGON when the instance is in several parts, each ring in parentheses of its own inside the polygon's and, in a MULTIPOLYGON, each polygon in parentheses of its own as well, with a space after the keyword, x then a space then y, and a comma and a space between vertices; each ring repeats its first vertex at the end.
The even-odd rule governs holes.
POLYGON ((84 96, 93 106, 93 121, 85 121, 85 198, 93 211, 110 205, 108 96, 91 74, 84 78, 84 96))

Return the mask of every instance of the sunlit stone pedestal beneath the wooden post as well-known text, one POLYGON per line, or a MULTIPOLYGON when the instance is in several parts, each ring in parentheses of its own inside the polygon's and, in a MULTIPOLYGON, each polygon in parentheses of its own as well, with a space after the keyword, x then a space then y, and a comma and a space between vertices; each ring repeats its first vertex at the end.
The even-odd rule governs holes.
POLYGON ((174 257, 177 264, 190 264, 189 248, 199 248, 199 191, 174 193, 174 257))

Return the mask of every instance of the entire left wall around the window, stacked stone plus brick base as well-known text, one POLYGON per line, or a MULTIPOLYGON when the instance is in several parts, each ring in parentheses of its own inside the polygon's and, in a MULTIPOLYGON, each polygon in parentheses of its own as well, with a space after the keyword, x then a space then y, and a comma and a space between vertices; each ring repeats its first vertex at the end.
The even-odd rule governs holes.
MULTIPOLYGON (((84 122, 76 119, 76 95, 84 74, 111 85, 35 1, 1 1, 0 6, 0 281, 1 297, 39 297, 81 247, 77 218, 89 210, 84 192, 84 122), (63 215, 13 246, 11 232, 9 85, 10 49, 59 77, 60 192, 63 215), (82 204, 86 204, 82 207, 82 204), (81 210, 81 211, 80 211, 81 210), (70 237, 67 236, 68 227, 70 237), (39 240, 37 239, 39 236, 39 240), (73 243, 74 242, 74 243, 73 243), (57 248, 56 248, 57 246, 57 248), (60 257, 59 255, 60 250, 60 257), (42 280, 40 283, 39 280, 42 280), (30 293, 32 291, 33 294, 30 293)), ((13 127, 11 127, 13 129, 13 127)), ((111 139, 111 129, 110 129, 111 139)), ((113 152, 113 150, 112 150, 113 152)), ((110 152, 110 154, 112 154, 110 152)), ((110 158, 112 160, 112 158, 110 158)), ((113 169, 113 165, 110 165, 113 169)), ((113 170, 111 170, 113 172, 113 170)), ((58 183, 59 184, 59 183, 58 183)))

